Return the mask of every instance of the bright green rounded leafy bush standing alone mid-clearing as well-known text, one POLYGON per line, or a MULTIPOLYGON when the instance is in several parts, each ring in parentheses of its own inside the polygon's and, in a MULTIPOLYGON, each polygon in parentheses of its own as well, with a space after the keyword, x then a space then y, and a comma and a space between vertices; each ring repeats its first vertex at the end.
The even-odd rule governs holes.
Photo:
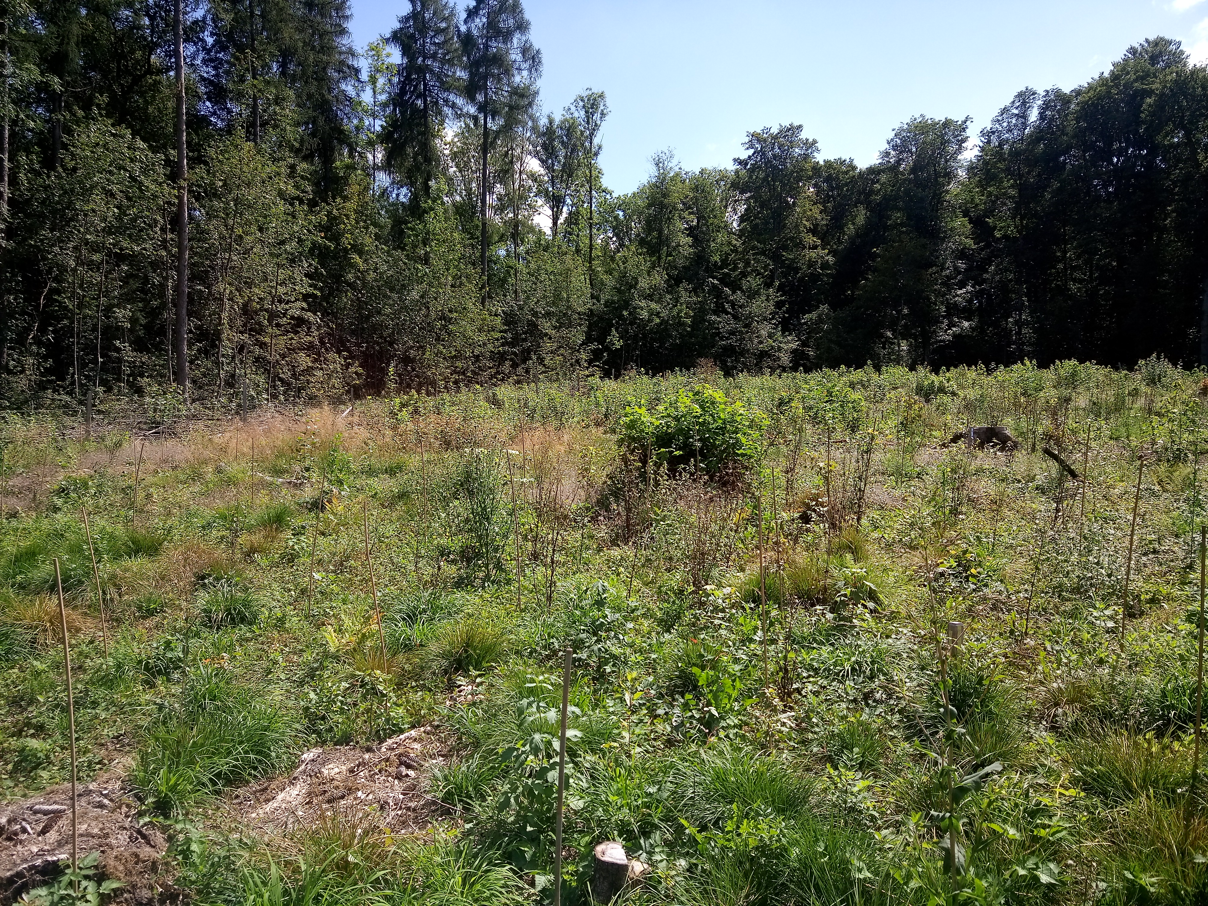
POLYGON ((654 412, 631 406, 621 419, 621 445, 643 464, 672 471, 695 466, 708 475, 749 467, 760 453, 767 417, 708 384, 680 390, 654 412))

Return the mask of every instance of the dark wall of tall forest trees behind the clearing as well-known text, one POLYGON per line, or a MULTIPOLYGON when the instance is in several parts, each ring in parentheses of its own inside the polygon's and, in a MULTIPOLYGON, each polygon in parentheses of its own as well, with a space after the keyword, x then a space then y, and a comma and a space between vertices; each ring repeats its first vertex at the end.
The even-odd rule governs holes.
POLYGON ((410 0, 364 52, 348 0, 181 1, 0 0, 7 405, 1208 353, 1208 68, 1178 42, 976 140, 916 117, 861 168, 779 126, 618 196, 604 94, 541 110, 519 0, 410 0))

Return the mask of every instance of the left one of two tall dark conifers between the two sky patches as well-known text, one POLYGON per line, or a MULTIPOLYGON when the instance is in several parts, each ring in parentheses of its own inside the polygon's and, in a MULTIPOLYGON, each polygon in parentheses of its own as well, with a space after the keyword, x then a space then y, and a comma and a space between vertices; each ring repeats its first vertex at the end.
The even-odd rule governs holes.
POLYGON ((390 43, 401 59, 385 121, 385 159, 422 205, 440 173, 441 139, 464 89, 457 12, 447 0, 411 0, 390 43))

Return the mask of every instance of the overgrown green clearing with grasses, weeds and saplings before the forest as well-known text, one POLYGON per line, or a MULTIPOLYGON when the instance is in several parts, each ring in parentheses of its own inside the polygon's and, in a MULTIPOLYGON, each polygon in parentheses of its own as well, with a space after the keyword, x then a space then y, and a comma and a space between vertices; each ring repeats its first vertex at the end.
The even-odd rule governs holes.
POLYGON ((1151 359, 10 413, 0 798, 69 779, 74 720, 162 901, 550 902, 569 649, 567 904, 603 841, 634 904, 1203 902, 1206 395, 1151 359), (252 820, 417 728, 423 807, 252 820))

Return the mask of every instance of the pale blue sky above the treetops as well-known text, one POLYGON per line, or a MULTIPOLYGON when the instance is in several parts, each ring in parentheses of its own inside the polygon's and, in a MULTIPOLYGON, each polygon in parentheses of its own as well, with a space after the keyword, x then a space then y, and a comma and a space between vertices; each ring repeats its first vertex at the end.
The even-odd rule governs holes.
MULTIPOLYGON (((353 0, 359 46, 407 0, 353 0)), ((824 157, 876 159, 912 116, 971 116, 1020 88, 1071 88, 1131 45, 1166 35, 1208 62, 1208 0, 529 0, 545 58, 542 103, 608 93, 602 165, 634 188, 672 149, 689 168, 728 165, 745 134, 797 122, 824 157)))

